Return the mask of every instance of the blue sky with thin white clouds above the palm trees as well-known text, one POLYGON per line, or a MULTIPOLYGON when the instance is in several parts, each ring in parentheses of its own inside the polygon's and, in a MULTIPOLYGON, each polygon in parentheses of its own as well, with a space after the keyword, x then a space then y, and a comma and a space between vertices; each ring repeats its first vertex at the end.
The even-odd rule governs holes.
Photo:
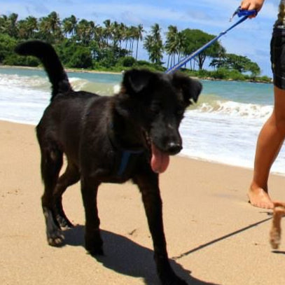
MULTIPOLYGON (((240 2, 241 0, 0 0, 0 15, 17 13, 20 20, 29 15, 41 18, 56 11, 61 20, 75 15, 79 20, 84 18, 103 25, 104 20, 109 19, 125 25, 142 24, 146 31, 158 23, 162 28, 162 36, 165 36, 169 25, 176 26, 179 31, 187 28, 201 29, 217 36, 238 20, 236 16, 229 22, 240 2)), ((266 0, 256 18, 247 19, 219 39, 227 53, 249 57, 259 65, 262 75, 270 77, 270 39, 278 6, 279 0, 266 0)), ((139 59, 147 59, 142 48, 139 59)))

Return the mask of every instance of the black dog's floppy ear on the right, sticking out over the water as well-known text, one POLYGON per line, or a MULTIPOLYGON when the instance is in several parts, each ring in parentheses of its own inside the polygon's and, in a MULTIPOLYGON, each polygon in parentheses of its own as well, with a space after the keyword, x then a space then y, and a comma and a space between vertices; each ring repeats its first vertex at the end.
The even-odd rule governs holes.
POLYGON ((192 100, 196 103, 202 91, 202 84, 188 76, 176 73, 173 75, 173 84, 176 88, 182 90, 184 101, 192 104, 192 100))

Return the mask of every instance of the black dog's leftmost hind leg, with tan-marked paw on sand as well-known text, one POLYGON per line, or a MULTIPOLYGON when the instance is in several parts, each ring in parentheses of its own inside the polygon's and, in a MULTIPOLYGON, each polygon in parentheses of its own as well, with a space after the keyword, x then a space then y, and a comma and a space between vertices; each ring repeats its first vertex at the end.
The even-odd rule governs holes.
POLYGON ((56 145, 41 146, 41 176, 45 186, 41 204, 46 219, 48 244, 59 246, 64 239, 54 211, 53 193, 62 168, 62 152, 56 145))

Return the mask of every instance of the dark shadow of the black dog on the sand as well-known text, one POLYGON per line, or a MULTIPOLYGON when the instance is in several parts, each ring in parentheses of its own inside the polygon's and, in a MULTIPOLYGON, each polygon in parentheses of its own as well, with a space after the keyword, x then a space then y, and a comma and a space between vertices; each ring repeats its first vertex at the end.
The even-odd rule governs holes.
MULTIPOLYGON (((104 240, 104 256, 95 258, 99 263, 120 274, 141 277, 147 285, 160 284, 155 270, 153 250, 147 249, 133 242, 131 239, 113 232, 101 230, 101 233, 104 240)), ((65 244, 84 246, 84 226, 76 225, 71 230, 65 230, 64 237, 65 244)), ((190 276, 190 271, 184 269, 174 260, 170 260, 170 264, 176 274, 188 284, 215 285, 190 276)))

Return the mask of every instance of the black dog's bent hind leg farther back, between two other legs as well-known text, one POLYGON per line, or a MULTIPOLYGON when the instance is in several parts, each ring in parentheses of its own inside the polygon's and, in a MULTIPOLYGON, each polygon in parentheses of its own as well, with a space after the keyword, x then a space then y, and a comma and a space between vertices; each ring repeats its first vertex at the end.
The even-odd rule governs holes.
POLYGON ((62 194, 67 187, 75 184, 80 179, 80 173, 78 171, 78 167, 71 163, 68 163, 67 169, 65 170, 64 174, 60 176, 57 180, 57 184, 55 186, 55 190, 53 193, 54 198, 54 211, 55 211, 55 218, 57 219, 57 223, 60 224, 61 228, 72 228, 73 225, 67 218, 64 213, 64 209, 62 207, 62 194))

